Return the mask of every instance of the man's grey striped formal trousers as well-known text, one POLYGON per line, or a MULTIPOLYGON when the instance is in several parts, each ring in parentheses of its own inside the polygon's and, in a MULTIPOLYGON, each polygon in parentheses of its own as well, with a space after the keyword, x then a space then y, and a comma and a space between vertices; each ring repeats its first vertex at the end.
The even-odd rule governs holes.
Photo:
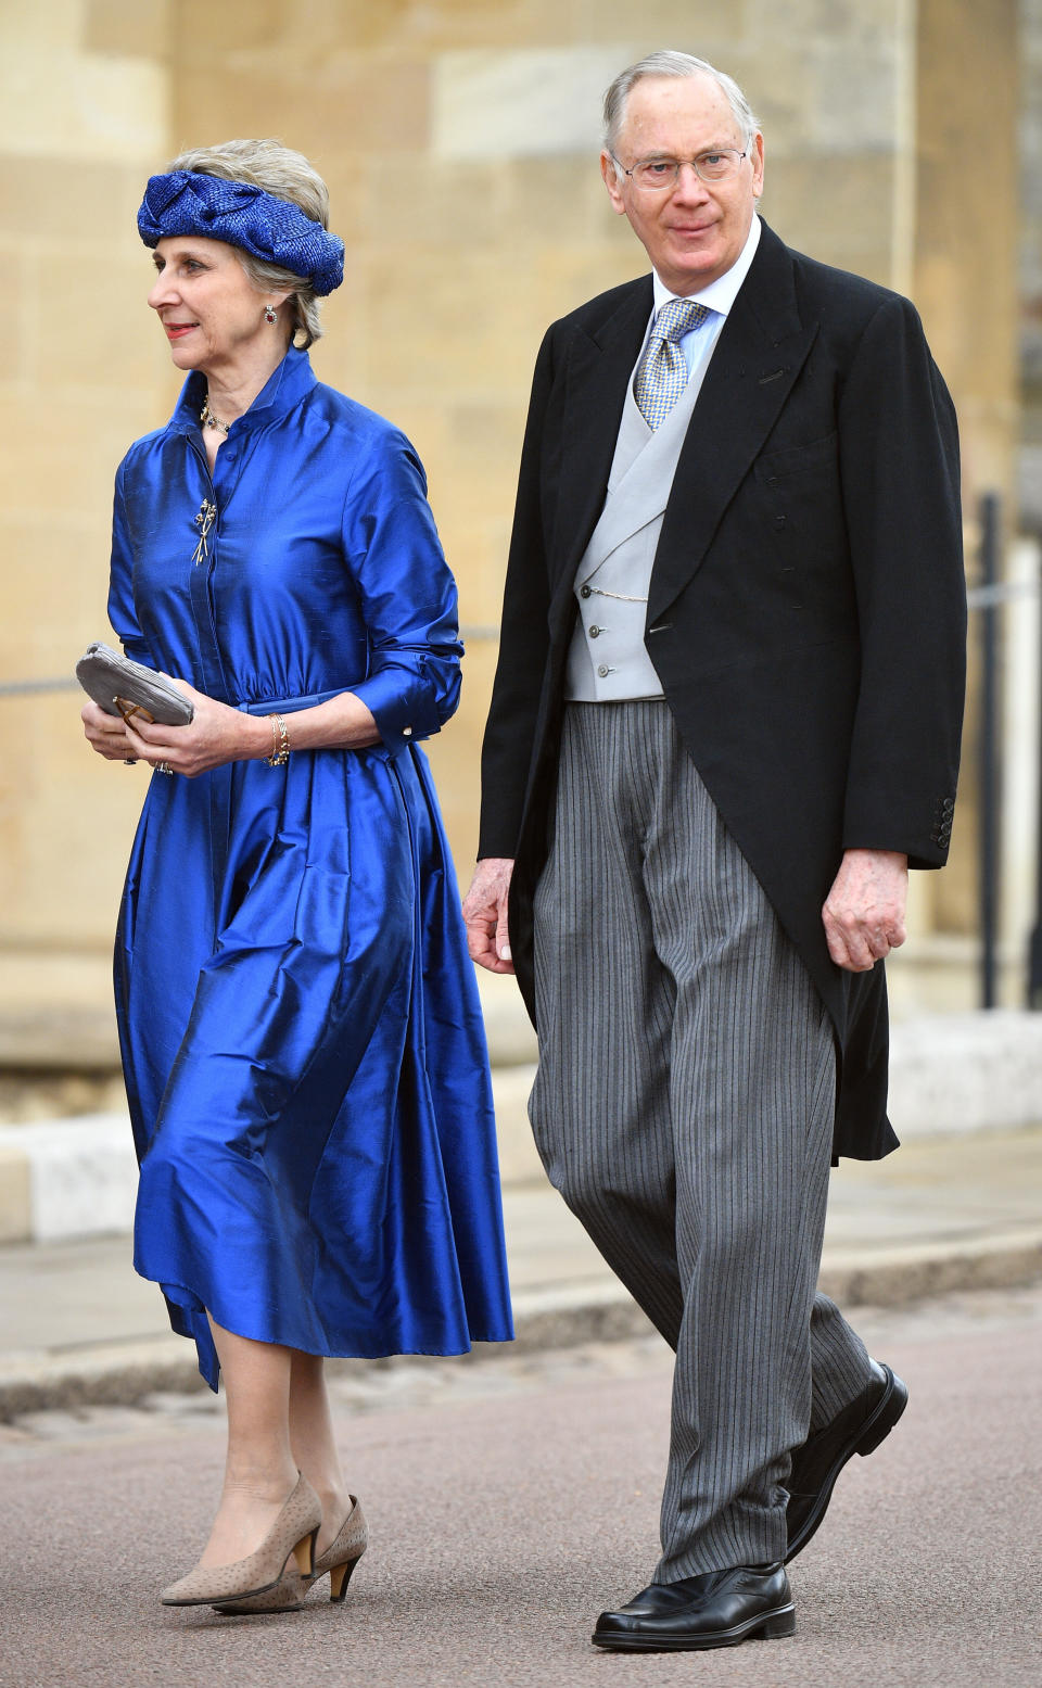
POLYGON ((780 1560, 870 1372, 816 1295, 833 1031, 664 701, 566 709, 535 998, 544 1165, 677 1354, 655 1580, 780 1560))

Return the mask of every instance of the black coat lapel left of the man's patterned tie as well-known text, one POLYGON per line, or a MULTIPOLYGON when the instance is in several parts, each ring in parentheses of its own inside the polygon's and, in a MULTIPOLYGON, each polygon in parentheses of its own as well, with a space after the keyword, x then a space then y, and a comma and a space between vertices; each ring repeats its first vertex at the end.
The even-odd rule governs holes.
POLYGON ((573 341, 566 371, 561 501, 551 557, 554 601, 573 587, 608 488, 627 381, 652 314, 652 279, 635 282, 623 302, 593 334, 573 341))

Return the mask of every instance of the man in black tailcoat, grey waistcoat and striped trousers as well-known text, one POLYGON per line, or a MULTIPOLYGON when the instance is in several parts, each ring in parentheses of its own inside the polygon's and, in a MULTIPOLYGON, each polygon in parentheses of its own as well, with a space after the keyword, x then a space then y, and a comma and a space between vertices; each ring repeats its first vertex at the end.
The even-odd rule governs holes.
POLYGON ((816 1280, 947 856, 958 444, 912 306, 758 219, 730 78, 654 54, 605 123, 654 273, 539 353, 464 913, 549 1177, 677 1354, 662 1558, 593 1639, 711 1647, 792 1632, 784 1563, 907 1401, 816 1280))

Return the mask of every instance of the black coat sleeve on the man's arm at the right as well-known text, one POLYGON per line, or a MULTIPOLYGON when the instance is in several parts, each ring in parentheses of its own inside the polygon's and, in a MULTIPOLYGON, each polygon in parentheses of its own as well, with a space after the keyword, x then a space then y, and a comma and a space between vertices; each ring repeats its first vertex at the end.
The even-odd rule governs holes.
POLYGON ((947 859, 966 680, 956 415, 914 306, 888 295, 839 402, 861 672, 844 849, 947 859))

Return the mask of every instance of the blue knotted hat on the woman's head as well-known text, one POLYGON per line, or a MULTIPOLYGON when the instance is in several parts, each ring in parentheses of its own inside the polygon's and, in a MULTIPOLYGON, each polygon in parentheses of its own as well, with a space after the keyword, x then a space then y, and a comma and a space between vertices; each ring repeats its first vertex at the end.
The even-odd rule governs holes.
POLYGON ((204 235, 277 263, 306 279, 324 295, 345 279, 345 243, 321 223, 312 223, 289 199, 277 199, 250 182, 223 176, 171 170, 152 176, 145 187, 137 230, 145 246, 167 235, 204 235))

